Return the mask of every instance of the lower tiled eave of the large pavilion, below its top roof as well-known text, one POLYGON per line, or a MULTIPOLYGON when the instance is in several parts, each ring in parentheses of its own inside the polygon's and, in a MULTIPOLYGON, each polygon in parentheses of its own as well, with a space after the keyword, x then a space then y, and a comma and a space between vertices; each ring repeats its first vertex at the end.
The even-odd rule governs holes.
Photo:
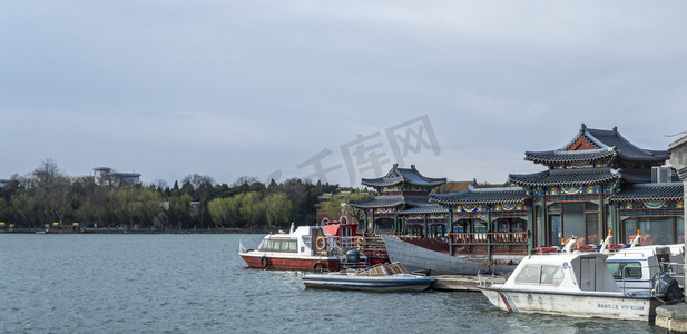
POLYGON ((609 167, 548 169, 534 174, 511 174, 509 180, 520 186, 581 186, 611 181, 620 177, 609 167))

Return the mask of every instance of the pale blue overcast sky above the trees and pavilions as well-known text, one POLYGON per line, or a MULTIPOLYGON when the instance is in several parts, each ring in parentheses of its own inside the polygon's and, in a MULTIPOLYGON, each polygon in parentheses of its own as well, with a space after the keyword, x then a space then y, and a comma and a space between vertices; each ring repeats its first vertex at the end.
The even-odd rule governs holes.
POLYGON ((0 178, 51 159, 360 186, 503 183, 581 124, 687 130, 684 1, 0 0, 0 178))

